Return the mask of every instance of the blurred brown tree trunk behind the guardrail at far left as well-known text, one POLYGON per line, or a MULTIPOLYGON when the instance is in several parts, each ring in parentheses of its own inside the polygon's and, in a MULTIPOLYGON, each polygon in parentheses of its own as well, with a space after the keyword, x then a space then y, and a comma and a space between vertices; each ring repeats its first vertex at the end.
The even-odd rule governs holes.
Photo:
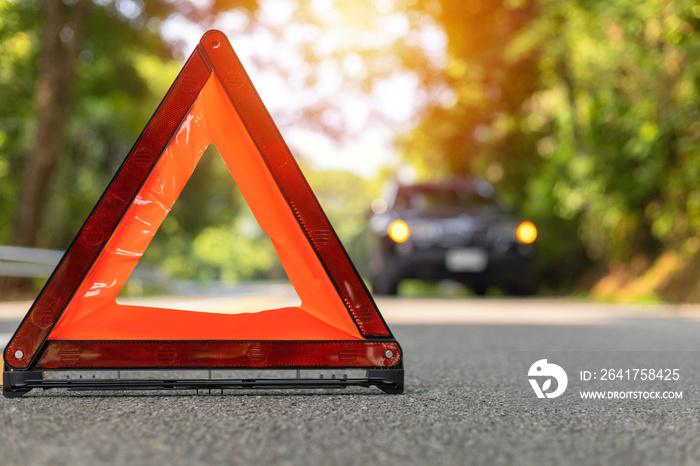
MULTIPOLYGON (((73 6, 66 6, 59 0, 44 3, 42 48, 34 97, 36 119, 12 230, 15 246, 37 245, 49 185, 68 120, 75 63, 91 5, 91 0, 79 0, 73 6)), ((30 279, 8 277, 1 288, 3 296, 12 297, 33 292, 33 283, 30 279)))

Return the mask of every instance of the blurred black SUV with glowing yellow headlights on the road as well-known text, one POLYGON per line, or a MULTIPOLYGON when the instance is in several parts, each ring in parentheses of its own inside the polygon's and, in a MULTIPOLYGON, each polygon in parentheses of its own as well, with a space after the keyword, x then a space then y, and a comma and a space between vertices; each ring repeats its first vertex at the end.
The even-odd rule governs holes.
POLYGON ((483 295, 537 292, 537 229, 498 205, 493 185, 468 177, 394 185, 372 203, 374 293, 395 295, 403 279, 455 280, 483 295))

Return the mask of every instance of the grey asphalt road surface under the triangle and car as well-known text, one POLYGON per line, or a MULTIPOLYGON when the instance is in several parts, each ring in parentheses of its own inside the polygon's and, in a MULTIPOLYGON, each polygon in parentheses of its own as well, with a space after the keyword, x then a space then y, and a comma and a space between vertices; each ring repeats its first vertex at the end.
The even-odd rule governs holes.
MULTIPOLYGON (((213 301, 216 308, 225 300, 213 301)), ((523 351, 692 355, 700 350, 700 308, 491 298, 378 303, 404 350, 404 395, 34 390, 0 400, 0 457, 13 465, 700 462, 697 390, 673 403, 555 405, 512 399, 509 388, 509 361, 523 351)), ((21 304, 0 305, 0 340, 22 313, 21 304)))

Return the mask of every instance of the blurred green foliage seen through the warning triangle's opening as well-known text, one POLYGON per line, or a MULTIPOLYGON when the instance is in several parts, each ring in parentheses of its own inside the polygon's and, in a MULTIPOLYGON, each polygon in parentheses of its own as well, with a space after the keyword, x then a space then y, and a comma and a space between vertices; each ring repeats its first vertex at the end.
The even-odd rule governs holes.
POLYGON ((140 264, 180 280, 284 276, 215 146, 202 156, 140 264))

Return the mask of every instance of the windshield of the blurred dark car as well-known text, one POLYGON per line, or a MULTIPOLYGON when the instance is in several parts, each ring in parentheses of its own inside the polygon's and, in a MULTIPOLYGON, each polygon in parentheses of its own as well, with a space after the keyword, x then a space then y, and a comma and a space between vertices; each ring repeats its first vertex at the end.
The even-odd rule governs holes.
POLYGON ((394 206, 416 210, 471 210, 494 207, 493 196, 484 196, 471 186, 402 186, 394 206))

